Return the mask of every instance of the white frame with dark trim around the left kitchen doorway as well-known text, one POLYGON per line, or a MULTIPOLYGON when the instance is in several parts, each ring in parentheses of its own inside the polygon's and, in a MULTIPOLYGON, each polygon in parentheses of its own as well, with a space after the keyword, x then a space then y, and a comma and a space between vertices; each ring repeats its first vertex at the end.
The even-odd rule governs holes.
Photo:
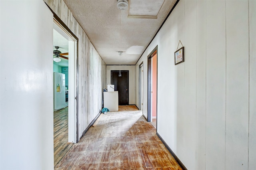
MULTIPOLYGON (((50 9, 50 7, 49 7, 50 9)), ((50 9, 51 10, 51 9, 50 9)), ((52 11, 52 10, 51 10, 52 11)), ((62 20, 52 11, 53 13, 53 22, 58 26, 60 29, 59 31, 62 31, 66 34, 66 36, 69 37, 69 48, 70 45, 72 47, 71 52, 73 55, 74 61, 72 61, 73 69, 68 70, 69 77, 72 77, 72 86, 74 91, 72 91, 73 95, 71 97, 70 95, 70 89, 68 93, 68 105, 72 105, 72 107, 68 107, 68 142, 74 142, 77 143, 78 138, 78 38, 76 35, 73 34, 73 32, 62 22, 62 20), (73 43, 72 43, 73 42, 73 43), (73 101, 71 99, 74 99, 73 101), (71 102, 70 102, 71 101, 71 102), (72 109, 72 110, 70 110, 72 109), (73 114, 71 114, 73 113, 73 114)), ((58 30, 56 30, 58 31, 58 30)), ((70 49, 69 49, 70 50, 70 49)), ((69 56, 70 57, 70 56, 69 56)), ((68 66, 70 67, 70 61, 68 62, 68 66)), ((70 83, 69 83, 70 84, 70 83)))

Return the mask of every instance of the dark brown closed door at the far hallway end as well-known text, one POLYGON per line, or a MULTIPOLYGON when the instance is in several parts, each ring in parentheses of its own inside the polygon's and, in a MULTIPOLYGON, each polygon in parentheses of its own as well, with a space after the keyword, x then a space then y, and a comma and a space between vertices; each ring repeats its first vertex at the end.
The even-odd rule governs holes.
POLYGON ((118 105, 129 105, 129 71, 122 70, 121 77, 118 74, 119 70, 111 70, 111 84, 118 91, 118 105))

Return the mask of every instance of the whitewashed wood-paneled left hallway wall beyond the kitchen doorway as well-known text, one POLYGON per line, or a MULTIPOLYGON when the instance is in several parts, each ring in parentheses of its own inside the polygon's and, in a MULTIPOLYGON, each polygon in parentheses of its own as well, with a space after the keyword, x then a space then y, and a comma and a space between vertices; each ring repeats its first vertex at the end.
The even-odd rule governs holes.
POLYGON ((78 137, 102 109, 106 64, 63 0, 44 0, 78 37, 78 137))

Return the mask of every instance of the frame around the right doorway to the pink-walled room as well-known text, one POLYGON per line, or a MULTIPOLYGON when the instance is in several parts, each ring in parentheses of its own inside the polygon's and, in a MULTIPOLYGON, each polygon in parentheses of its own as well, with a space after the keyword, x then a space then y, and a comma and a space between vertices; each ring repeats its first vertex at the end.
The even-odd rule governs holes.
MULTIPOLYGON (((152 93, 151 93, 151 89, 152 89, 152 57, 156 54, 158 55, 158 46, 156 45, 156 47, 151 51, 151 53, 148 55, 148 117, 147 117, 147 121, 151 122, 152 120, 152 93)), ((157 58, 158 60, 158 58, 157 58)), ((156 63, 156 65, 158 65, 158 62, 156 63)), ((158 67, 158 66, 156 66, 158 67)), ((158 73, 157 73, 158 74, 158 73)), ((158 75, 156 75, 156 77, 158 77, 158 75)), ((157 83, 158 79, 156 80, 156 94, 157 94, 157 83)), ((156 119, 157 119, 157 95, 156 95, 156 119)), ((157 124, 157 123, 156 123, 157 124)), ((157 127, 157 125, 156 125, 157 127)))

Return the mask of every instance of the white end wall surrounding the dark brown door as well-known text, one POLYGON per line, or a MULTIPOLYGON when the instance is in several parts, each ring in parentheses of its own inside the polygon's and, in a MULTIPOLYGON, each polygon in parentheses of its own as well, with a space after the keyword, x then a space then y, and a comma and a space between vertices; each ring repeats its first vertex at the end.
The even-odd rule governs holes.
MULTIPOLYGON (((121 65, 120 68, 121 70, 129 71, 129 105, 134 105, 135 104, 135 65, 121 65)), ((119 70, 119 65, 107 65, 106 86, 108 84, 111 84, 111 70, 119 70)))

